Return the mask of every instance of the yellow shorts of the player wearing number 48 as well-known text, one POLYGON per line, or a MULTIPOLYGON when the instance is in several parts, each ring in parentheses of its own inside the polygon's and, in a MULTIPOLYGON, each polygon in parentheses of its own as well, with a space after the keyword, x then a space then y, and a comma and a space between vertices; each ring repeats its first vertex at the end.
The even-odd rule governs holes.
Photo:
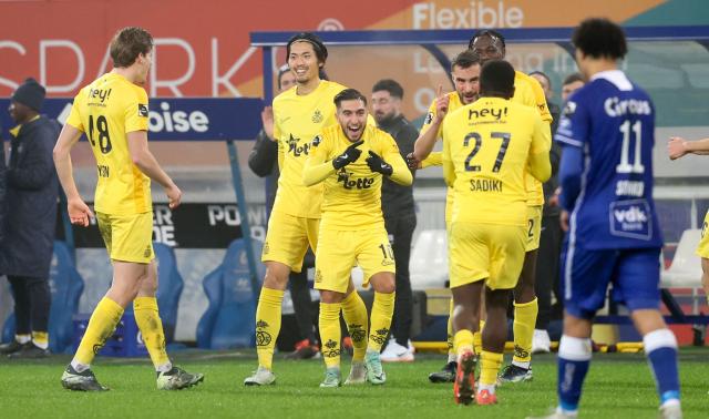
POLYGON ((153 253, 153 212, 133 215, 96 213, 99 231, 111 260, 150 264, 153 253))

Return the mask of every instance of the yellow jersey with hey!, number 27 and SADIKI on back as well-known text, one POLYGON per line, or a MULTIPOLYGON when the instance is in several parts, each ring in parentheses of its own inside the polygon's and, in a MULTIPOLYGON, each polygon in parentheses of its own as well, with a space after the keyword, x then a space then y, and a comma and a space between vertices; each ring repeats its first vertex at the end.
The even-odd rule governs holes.
POLYGON ((535 110, 500 98, 448 115, 443 171, 454 190, 452 222, 526 225, 524 175, 531 155, 546 153, 548 167, 545 130, 535 110))

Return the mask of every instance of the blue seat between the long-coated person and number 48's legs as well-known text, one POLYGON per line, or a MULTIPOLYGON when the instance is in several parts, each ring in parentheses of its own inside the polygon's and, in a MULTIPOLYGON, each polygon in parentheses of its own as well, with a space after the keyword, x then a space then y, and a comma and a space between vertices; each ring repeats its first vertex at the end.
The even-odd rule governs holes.
MULTIPOLYGON (((64 242, 54 242, 54 255, 49 274, 52 305, 49 313, 49 349, 53 354, 71 350, 73 338, 72 318, 79 310, 79 299, 84 290, 84 280, 79 275, 64 242)), ((4 323, 2 340, 14 337, 14 315, 4 323)))

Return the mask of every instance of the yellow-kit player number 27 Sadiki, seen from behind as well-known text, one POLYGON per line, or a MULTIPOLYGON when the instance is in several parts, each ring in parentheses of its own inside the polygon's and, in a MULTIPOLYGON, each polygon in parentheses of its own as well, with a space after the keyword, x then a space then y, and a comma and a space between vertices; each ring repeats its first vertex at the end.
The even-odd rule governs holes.
POLYGON ((515 71, 489 61, 481 71, 481 99, 449 114, 443 124, 443 175, 453 188, 449 227, 451 290, 460 403, 496 402, 495 384, 507 336, 507 303, 525 257, 525 175, 544 182, 552 172, 548 127, 536 110, 510 99, 515 71), (474 395, 481 292, 487 320, 482 331, 482 372, 474 395))

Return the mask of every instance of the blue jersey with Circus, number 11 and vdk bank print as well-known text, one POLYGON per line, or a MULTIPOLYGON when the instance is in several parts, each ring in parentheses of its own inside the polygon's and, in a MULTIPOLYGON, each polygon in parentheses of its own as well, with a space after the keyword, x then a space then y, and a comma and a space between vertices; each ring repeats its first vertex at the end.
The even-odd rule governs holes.
POLYGON ((569 99, 555 140, 569 159, 578 156, 569 170, 578 187, 561 197, 571 213, 569 241, 588 249, 660 247, 649 95, 619 70, 598 73, 569 99))

